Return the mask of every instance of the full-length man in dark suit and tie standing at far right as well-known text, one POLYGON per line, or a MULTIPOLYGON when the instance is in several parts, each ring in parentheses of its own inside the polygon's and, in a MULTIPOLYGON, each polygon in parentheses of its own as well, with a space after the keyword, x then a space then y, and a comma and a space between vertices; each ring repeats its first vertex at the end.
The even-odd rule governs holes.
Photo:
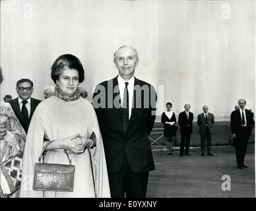
POLYGON ((240 109, 232 111, 230 116, 230 126, 232 138, 235 138, 234 145, 236 147, 236 162, 238 168, 247 167, 244 164, 244 158, 247 150, 247 144, 253 125, 253 115, 251 111, 245 109, 246 102, 243 99, 238 101, 240 109))

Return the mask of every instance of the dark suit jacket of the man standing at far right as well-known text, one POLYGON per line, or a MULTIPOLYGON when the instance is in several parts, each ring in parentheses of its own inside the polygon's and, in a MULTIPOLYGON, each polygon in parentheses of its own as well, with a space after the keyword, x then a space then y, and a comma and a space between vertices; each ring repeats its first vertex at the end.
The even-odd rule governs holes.
MULTIPOLYGON (((249 127, 248 135, 250 136, 255 122, 253 120, 253 115, 252 115, 251 111, 245 109, 245 116, 246 116, 246 121, 247 121, 247 127, 249 127)), ((242 130, 240 109, 232 111, 231 116, 230 116, 230 125, 231 125, 231 133, 232 134, 234 134, 234 133, 240 134, 240 132, 242 130)))

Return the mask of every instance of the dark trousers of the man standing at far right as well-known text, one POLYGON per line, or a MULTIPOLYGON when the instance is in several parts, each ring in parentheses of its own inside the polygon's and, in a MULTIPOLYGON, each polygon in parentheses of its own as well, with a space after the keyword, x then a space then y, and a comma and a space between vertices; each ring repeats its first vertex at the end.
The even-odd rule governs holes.
POLYGON ((244 165, 244 158, 247 151, 247 144, 249 140, 249 127, 242 127, 240 133, 236 133, 236 164, 238 167, 244 165))

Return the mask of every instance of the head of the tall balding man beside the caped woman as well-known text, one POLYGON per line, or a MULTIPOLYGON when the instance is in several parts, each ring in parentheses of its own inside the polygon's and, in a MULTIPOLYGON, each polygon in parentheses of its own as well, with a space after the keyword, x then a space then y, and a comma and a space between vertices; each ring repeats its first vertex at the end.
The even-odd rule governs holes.
POLYGON ((115 67, 124 79, 129 80, 134 75, 138 62, 137 53, 131 47, 122 47, 115 53, 115 67))

